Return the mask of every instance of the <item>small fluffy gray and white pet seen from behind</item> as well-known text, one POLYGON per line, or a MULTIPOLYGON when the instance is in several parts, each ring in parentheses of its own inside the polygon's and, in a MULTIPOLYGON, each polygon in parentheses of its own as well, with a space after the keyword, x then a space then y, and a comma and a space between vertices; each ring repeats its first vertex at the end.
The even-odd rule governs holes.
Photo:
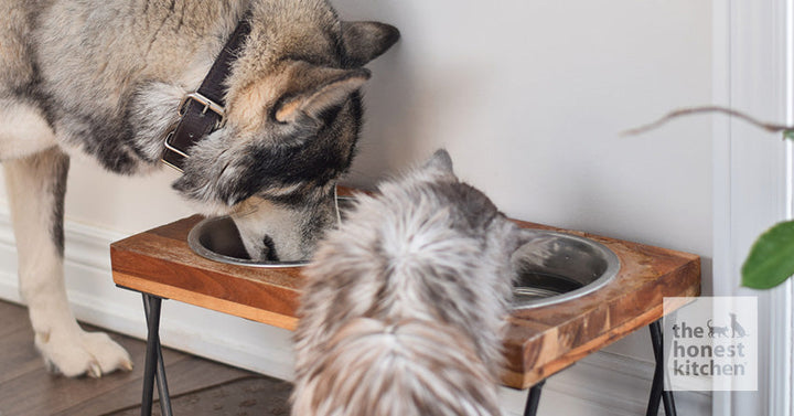
POLYGON ((500 414, 518 227, 446 151, 379 192, 305 270, 292 414, 500 414))

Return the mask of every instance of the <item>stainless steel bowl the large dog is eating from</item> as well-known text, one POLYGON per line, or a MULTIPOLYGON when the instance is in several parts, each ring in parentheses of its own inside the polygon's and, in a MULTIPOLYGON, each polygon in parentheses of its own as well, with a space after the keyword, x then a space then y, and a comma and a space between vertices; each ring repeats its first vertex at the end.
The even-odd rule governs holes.
MULTIPOLYGON (((340 216, 353 204, 353 198, 339 196, 336 204, 340 216)), ((257 262, 248 256, 239 231, 228 215, 205 218, 198 222, 187 234, 187 245, 195 254, 211 260, 232 265, 279 268, 304 266, 309 262, 257 262)))

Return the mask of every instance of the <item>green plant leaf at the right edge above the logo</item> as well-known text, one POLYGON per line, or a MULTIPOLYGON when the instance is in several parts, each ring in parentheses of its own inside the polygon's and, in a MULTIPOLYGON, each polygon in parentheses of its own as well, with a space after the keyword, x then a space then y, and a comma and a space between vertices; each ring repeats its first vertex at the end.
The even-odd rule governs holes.
POLYGON ((742 286, 773 288, 794 275, 794 221, 779 223, 758 237, 742 265, 742 286))

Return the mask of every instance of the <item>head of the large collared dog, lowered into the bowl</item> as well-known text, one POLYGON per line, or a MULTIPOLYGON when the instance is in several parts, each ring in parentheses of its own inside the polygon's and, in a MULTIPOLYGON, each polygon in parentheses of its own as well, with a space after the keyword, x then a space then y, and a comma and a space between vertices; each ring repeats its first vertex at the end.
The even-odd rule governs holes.
POLYGON ((255 8, 228 78, 226 124, 191 149, 174 188, 232 215, 251 258, 310 257, 336 221, 334 186, 354 154, 369 78, 362 66, 398 38, 387 24, 341 22, 330 8, 255 8))

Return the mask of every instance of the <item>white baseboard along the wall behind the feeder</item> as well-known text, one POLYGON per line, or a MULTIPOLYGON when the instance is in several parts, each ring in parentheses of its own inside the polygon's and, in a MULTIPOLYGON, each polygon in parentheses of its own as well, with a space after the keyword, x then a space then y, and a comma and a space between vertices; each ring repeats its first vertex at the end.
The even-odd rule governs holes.
MULTIPOLYGON (((125 237, 98 227, 66 223, 66 285, 77 319, 143 339, 142 300, 117 288, 109 244, 125 237)), ((0 298, 20 302, 17 255, 8 210, 0 206, 0 298)), ((273 377, 292 377, 290 332, 176 301, 163 302, 164 345, 273 377)), ((137 363, 142 365, 142 363, 137 363)), ((651 363, 597 352, 549 378, 539 415, 633 416, 645 414, 651 363)), ((502 390, 506 415, 522 415, 526 391, 502 390)), ((710 413, 711 397, 677 393, 682 415, 710 413)))

